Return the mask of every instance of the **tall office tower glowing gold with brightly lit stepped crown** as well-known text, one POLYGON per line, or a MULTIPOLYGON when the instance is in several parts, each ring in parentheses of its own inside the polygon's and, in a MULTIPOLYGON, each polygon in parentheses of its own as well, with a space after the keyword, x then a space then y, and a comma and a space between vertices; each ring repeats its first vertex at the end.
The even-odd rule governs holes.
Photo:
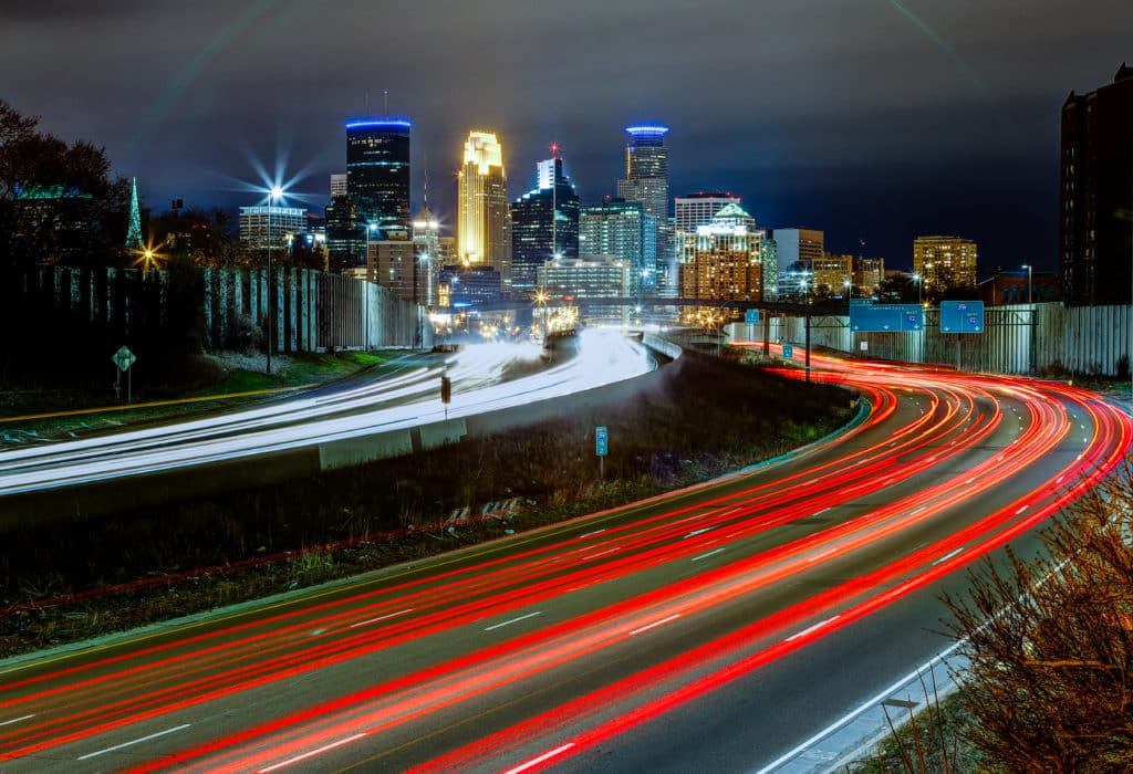
POLYGON ((465 164, 457 190, 457 253, 463 266, 491 266, 511 290, 511 233, 508 178, 496 136, 472 131, 465 143, 465 164))

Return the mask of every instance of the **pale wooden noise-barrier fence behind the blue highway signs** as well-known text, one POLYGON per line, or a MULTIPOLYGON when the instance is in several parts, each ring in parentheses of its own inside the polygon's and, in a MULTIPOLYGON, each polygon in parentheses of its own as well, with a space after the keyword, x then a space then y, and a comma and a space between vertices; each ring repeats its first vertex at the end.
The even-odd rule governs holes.
MULTIPOLYGON (((855 356, 940 363, 963 370, 1125 377, 1130 373, 1131 307, 1020 303, 985 309, 982 334, 940 333, 939 309, 925 311, 925 330, 853 333, 847 316, 811 318, 810 341, 855 356), (866 350, 862 350, 862 343, 866 350)), ((802 344, 801 317, 772 319, 772 339, 802 344)))

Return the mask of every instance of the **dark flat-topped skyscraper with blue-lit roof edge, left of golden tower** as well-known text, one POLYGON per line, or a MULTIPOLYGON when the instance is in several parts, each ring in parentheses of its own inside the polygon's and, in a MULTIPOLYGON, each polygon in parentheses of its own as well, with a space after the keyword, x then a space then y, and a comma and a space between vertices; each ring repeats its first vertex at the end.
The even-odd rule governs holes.
POLYGON ((411 128, 404 119, 347 123, 347 192, 363 227, 374 223, 380 229, 409 229, 411 128))

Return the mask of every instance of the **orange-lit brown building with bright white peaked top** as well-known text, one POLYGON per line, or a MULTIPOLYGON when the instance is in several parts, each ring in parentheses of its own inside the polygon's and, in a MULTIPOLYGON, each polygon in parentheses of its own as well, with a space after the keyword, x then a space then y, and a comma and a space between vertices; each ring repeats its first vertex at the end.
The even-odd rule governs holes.
POLYGON ((695 234, 682 235, 682 298, 764 300, 761 234, 748 225, 750 215, 735 205, 730 207, 735 207, 735 210, 714 218, 708 225, 698 226, 695 234))

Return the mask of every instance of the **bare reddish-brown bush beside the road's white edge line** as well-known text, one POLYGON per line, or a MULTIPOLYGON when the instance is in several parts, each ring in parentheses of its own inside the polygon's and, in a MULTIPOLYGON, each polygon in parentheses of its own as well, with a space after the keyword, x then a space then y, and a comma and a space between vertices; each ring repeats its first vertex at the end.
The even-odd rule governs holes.
POLYGON ((946 599, 970 660, 969 741, 991 771, 1133 769, 1133 471, 1077 500, 1047 556, 987 562, 946 599))

